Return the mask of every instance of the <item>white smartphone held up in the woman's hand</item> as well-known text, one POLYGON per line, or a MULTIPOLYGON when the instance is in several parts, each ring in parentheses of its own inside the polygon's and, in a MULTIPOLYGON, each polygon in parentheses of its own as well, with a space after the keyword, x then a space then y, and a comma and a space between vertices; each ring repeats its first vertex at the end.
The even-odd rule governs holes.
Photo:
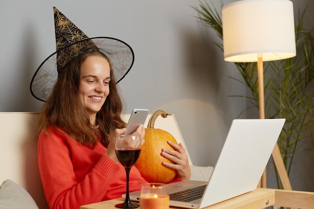
POLYGON ((134 109, 126 125, 125 135, 132 134, 140 124, 144 124, 148 115, 147 109, 134 109))

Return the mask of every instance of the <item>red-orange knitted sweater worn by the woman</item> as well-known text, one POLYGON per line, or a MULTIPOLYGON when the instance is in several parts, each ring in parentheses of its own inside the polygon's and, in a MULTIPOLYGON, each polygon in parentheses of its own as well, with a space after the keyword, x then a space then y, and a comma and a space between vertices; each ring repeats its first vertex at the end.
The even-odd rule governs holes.
MULTIPOLYGON (((100 142, 89 148, 52 127, 49 134, 41 132, 38 165, 51 209, 78 209, 80 205, 118 198, 125 193, 124 167, 106 156, 106 151, 100 142)), ((145 182, 133 166, 129 191, 139 190, 145 182)))

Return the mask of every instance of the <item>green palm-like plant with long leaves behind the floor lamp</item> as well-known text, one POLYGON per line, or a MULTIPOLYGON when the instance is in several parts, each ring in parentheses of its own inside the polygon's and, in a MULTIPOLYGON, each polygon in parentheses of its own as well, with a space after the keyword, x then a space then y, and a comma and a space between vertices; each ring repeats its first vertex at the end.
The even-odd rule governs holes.
MULTIPOLYGON (((198 20, 205 26, 212 28, 221 42, 216 42, 223 51, 223 33, 221 9, 217 10, 206 2, 200 2, 199 7, 192 7, 198 12, 198 20)), ((298 10, 300 11, 300 10, 298 10)), ((283 163, 289 176, 297 144, 305 137, 311 137, 310 129, 314 125, 314 27, 304 29, 305 11, 298 12, 295 20, 296 56, 294 58, 271 61, 264 64, 264 94, 265 118, 285 118, 286 122, 278 139, 278 146, 283 163)), ((251 95, 234 95, 244 98, 248 109, 256 110, 258 116, 257 64, 235 63, 242 80, 251 95)), ((232 78, 235 79, 235 78, 232 78)), ((276 172, 277 186, 282 188, 276 172)))

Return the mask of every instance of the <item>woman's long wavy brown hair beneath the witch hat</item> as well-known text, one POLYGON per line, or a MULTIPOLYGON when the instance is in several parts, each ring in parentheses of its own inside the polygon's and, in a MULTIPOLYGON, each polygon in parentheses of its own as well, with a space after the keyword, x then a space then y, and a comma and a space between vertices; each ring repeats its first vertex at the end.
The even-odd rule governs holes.
POLYGON ((50 97, 42 107, 39 131, 44 129, 48 133, 48 127, 59 127, 83 145, 95 145, 100 137, 101 143, 107 147, 110 134, 126 125, 121 119, 122 110, 122 100, 110 60, 101 52, 85 52, 69 62, 59 74, 50 97), (90 124, 89 115, 78 94, 81 66, 89 56, 104 57, 110 65, 110 93, 96 114, 98 129, 90 124))

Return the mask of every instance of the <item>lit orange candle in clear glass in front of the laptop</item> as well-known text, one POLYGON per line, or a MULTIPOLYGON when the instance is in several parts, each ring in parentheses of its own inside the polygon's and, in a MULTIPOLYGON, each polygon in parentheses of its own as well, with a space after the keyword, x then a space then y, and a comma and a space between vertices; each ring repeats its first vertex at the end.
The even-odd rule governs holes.
POLYGON ((169 195, 168 194, 141 194, 139 196, 139 206, 141 209, 168 209, 169 195))

